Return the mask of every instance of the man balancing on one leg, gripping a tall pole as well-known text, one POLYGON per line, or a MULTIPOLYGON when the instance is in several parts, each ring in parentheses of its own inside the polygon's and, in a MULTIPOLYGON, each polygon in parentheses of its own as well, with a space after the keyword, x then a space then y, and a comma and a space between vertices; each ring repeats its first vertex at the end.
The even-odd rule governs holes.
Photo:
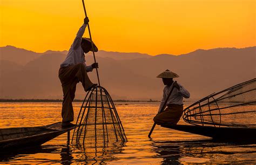
POLYGON ((84 18, 84 24, 79 29, 66 59, 60 64, 59 80, 62 83, 64 97, 62 102, 62 127, 73 126, 71 123, 74 120, 72 101, 75 98, 77 83, 79 81, 82 83, 85 92, 90 91, 97 85, 91 82, 87 72, 91 72, 93 68, 98 68, 98 63, 87 66, 84 59, 85 53, 98 51, 94 43, 92 43, 94 48, 92 49, 89 38, 82 37, 88 23, 88 17, 84 18))

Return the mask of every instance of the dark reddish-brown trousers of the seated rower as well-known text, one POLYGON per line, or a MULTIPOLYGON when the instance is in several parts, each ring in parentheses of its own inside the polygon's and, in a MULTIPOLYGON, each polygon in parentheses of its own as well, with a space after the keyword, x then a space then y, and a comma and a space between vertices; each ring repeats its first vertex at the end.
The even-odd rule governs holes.
POLYGON ((157 125, 161 125, 162 123, 176 125, 182 113, 183 105, 170 104, 163 112, 157 114, 153 120, 157 125))

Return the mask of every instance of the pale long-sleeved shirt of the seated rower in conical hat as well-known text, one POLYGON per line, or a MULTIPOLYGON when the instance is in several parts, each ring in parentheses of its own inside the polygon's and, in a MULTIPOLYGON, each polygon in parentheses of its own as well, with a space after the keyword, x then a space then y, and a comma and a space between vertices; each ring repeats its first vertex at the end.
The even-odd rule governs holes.
MULTIPOLYGON (((178 83, 177 83, 178 84, 178 83)), ((178 105, 183 105, 183 98, 190 98, 190 93, 180 84, 178 84, 180 87, 180 90, 178 90, 176 87, 174 87, 172 94, 170 95, 170 98, 167 101, 167 105, 169 104, 178 104, 178 105)), ((164 106, 164 102, 166 98, 168 97, 169 92, 172 89, 172 86, 165 86, 164 87, 164 93, 163 93, 163 99, 161 99, 161 103, 158 109, 158 112, 160 112, 161 108, 164 106)), ((164 107, 165 108, 165 107, 164 107)))

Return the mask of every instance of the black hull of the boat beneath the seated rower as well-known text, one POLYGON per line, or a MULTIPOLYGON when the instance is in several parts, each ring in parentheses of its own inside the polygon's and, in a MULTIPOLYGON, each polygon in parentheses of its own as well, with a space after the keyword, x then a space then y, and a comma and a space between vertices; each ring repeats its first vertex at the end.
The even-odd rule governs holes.
POLYGON ((256 128, 161 125, 161 127, 211 137, 215 141, 256 143, 256 128))

